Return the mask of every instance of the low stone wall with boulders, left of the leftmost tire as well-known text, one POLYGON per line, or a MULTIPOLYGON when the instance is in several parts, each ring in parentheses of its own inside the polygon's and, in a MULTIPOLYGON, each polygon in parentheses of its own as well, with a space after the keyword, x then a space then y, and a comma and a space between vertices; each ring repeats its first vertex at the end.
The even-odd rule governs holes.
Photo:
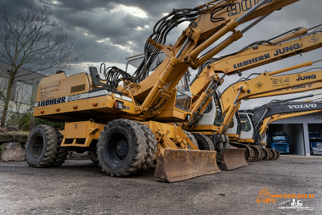
POLYGON ((24 161, 28 134, 0 133, 0 161, 24 161))

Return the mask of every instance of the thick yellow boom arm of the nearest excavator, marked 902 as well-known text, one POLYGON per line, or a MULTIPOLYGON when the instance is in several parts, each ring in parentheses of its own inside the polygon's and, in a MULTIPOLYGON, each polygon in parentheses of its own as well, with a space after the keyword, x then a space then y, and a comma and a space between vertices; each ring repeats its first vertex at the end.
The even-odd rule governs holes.
MULTIPOLYGON (((221 51, 224 47, 214 48, 211 51, 211 56, 207 54, 206 56, 199 57, 202 51, 222 38, 226 33, 230 31, 235 32, 234 29, 238 24, 279 10, 297 1, 299 0, 265 1, 266 3, 254 12, 251 12, 251 9, 261 2, 250 1, 246 4, 245 0, 223 1, 220 3, 215 1, 199 6, 199 8, 202 8, 200 16, 195 21, 192 21, 189 27, 183 31, 174 46, 158 44, 153 40, 154 38, 149 38, 148 42, 167 56, 145 80, 136 85, 130 84, 130 92, 134 99, 141 102, 141 107, 138 110, 143 113, 147 112, 159 100, 161 91, 165 87, 170 88, 170 91, 176 87, 188 70, 188 67, 198 68, 200 65, 198 61, 208 60, 221 51)), ((238 38, 240 37, 239 34, 238 38)), ((225 47, 232 42, 225 44, 225 47)), ((170 97, 171 95, 167 96, 170 97)), ((159 110, 162 110, 162 108, 159 108, 159 110)), ((152 115, 157 114, 151 113, 152 115)))

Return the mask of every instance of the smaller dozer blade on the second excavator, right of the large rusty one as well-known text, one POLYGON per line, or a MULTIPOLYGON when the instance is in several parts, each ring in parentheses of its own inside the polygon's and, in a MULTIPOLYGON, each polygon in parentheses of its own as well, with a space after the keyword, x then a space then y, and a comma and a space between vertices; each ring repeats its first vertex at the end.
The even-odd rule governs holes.
POLYGON ((225 148, 220 156, 222 170, 233 170, 247 166, 246 149, 225 148))

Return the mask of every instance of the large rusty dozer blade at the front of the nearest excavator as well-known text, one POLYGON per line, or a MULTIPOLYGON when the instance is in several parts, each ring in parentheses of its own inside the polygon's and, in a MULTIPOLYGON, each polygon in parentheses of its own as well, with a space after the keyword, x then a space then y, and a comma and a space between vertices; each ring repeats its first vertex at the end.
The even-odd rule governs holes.
POLYGON ((216 151, 160 148, 154 180, 176 182, 220 172, 216 151))

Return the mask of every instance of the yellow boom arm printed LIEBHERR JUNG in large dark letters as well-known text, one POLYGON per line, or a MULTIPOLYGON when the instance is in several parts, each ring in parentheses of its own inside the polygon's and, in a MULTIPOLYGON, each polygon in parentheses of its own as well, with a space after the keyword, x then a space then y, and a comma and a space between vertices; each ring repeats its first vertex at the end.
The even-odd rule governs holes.
MULTIPOLYGON (((299 32, 307 33, 305 30, 299 32)), ((294 34, 294 36, 296 35, 298 34, 294 34)), ((267 43, 264 45, 254 45, 246 50, 210 63, 191 84, 192 94, 199 96, 201 92, 205 92, 212 81, 218 79, 219 73, 232 75, 237 72, 246 71, 273 61, 320 48, 322 42, 316 41, 314 43, 313 41, 315 41, 316 38, 321 37, 322 33, 315 32, 291 38, 291 41, 288 39, 271 45, 267 43)), ((196 100, 195 97, 193 97, 193 101, 196 100)))

